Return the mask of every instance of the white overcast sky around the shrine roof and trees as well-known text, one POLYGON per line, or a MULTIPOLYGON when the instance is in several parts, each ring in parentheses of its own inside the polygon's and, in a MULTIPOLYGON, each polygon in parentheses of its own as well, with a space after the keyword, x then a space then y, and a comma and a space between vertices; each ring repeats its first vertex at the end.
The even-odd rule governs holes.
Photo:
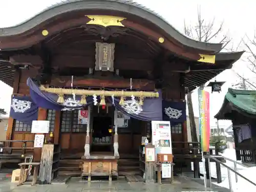
MULTIPOLYGON (((0 1, 0 27, 10 27, 24 22, 24 20, 57 2, 61 1, 2 0, 0 1)), ((136 2, 159 13, 180 32, 183 32, 184 19, 186 23, 192 26, 196 23, 197 9, 200 5, 201 15, 205 21, 211 21, 215 18, 216 26, 224 21, 223 34, 228 34, 232 38, 234 45, 238 44, 245 34, 251 37, 256 29, 255 22, 253 22, 254 18, 256 18, 256 1, 252 0, 137 0, 136 2)), ((226 83, 222 87, 222 93, 210 94, 211 125, 215 125, 213 117, 219 111, 228 87, 238 81, 238 77, 233 71, 239 72, 241 75, 247 75, 245 65, 246 63, 240 60, 234 64, 233 70, 226 70, 217 77, 217 81, 226 81, 226 83)), ((1 108, 9 111, 12 89, 0 82, 0 90, 6 90, 1 91, 1 108)), ((205 90, 210 91, 209 88, 205 90)), ((195 116, 199 115, 197 97, 197 93, 193 93, 195 116)), ((222 121, 220 125, 222 124, 228 125, 230 122, 222 121)))

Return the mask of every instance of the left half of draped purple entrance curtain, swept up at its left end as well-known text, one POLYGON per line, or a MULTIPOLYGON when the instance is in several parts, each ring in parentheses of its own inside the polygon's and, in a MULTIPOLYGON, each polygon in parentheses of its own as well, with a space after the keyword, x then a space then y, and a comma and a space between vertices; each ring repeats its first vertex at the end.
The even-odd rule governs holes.
POLYGON ((87 104, 82 105, 79 103, 81 96, 76 95, 75 100, 73 99, 73 95, 65 95, 65 102, 58 103, 58 95, 54 93, 48 93, 45 91, 41 91, 39 87, 33 82, 31 78, 27 79, 27 85, 30 88, 30 96, 33 101, 40 108, 51 109, 51 110, 79 110, 84 106, 92 103, 92 97, 87 97, 87 104))

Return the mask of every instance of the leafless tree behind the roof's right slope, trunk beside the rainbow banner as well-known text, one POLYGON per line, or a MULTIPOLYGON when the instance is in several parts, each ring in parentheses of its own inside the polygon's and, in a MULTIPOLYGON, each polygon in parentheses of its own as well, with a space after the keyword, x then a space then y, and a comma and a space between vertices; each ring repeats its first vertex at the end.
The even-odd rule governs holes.
MULTIPOLYGON (((222 29, 223 22, 217 27, 215 25, 215 19, 212 19, 208 23, 205 22, 205 20, 202 18, 200 7, 198 7, 198 20, 195 26, 186 25, 184 21, 185 35, 195 40, 203 42, 218 41, 220 43, 223 43, 222 49, 225 49, 226 46, 229 44, 230 39, 228 38, 227 35, 223 35, 222 29)), ((202 85, 202 87, 204 87, 204 85, 202 85)), ((194 142, 198 142, 191 92, 187 94, 187 106, 190 122, 191 139, 194 142)))

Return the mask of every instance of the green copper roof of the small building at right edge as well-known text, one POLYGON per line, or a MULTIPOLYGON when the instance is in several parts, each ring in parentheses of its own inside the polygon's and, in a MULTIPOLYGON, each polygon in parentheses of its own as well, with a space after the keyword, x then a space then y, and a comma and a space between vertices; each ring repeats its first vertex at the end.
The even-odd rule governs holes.
POLYGON ((215 118, 225 119, 224 114, 230 105, 247 114, 256 115, 256 91, 234 90, 229 88, 222 107, 218 114, 215 115, 215 118))

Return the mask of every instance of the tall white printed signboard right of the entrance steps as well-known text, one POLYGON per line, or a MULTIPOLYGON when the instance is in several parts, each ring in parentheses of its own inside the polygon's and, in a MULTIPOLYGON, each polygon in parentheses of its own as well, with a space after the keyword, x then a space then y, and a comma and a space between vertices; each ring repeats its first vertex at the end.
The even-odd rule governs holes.
POLYGON ((169 121, 151 121, 152 144, 156 147, 157 154, 172 154, 172 135, 170 134, 169 121))

